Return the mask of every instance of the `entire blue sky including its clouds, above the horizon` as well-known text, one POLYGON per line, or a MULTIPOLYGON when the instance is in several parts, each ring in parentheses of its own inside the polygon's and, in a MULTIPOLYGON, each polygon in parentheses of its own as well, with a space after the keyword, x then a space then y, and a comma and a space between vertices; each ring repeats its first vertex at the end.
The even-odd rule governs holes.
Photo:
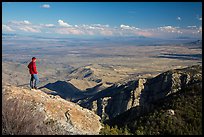
POLYGON ((202 36, 201 2, 4 2, 2 8, 3 33, 202 36))

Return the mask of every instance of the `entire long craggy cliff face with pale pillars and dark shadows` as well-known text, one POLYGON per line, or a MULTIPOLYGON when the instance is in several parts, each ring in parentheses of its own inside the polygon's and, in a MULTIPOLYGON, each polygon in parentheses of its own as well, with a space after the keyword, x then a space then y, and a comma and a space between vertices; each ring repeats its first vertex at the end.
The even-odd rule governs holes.
MULTIPOLYGON (((112 119, 136 106, 149 111, 154 107, 153 102, 201 81, 202 66, 170 70, 154 78, 115 84, 79 104, 93 110, 102 119, 112 119)), ((137 113, 140 112, 138 109, 137 113)))

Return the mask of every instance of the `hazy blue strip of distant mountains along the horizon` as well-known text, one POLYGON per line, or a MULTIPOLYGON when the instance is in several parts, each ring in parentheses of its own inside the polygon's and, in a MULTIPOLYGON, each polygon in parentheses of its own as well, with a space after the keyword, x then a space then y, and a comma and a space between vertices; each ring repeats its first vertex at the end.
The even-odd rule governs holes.
MULTIPOLYGON (((6 40, 8 38, 16 38, 16 39, 34 39, 34 40, 52 40, 59 42, 71 42, 71 43, 84 43, 89 45, 94 44, 123 44, 123 45, 158 45, 158 44, 186 44, 194 41, 202 41, 190 37, 177 37, 174 39, 159 39, 159 38, 151 38, 145 36, 120 36, 120 37, 97 37, 97 38, 60 38, 60 37, 45 37, 45 36, 37 36, 37 35, 22 35, 22 34, 7 34, 2 33, 2 39, 6 40)), ((192 43, 193 44, 193 43, 192 43)), ((197 44, 197 43, 196 43, 197 44)))

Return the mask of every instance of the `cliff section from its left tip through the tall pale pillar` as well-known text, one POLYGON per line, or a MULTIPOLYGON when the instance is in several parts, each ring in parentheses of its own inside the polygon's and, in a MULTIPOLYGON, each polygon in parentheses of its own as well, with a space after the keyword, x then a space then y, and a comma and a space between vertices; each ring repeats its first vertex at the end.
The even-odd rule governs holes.
POLYGON ((93 97, 80 100, 78 103, 82 107, 94 111, 103 120, 111 119, 131 107, 139 105, 139 96, 145 82, 145 79, 139 79, 124 84, 114 84, 93 97))

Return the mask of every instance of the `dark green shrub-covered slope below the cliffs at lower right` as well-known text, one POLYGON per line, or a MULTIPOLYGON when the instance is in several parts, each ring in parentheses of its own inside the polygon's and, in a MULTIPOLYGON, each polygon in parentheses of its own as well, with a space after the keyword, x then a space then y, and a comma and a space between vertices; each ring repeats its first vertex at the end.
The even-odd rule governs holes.
POLYGON ((133 135, 202 135, 202 82, 172 94, 154 105, 154 111, 139 117, 126 112, 124 116, 114 119, 114 124, 109 121, 112 128, 106 125, 101 133, 123 134, 125 129, 128 134, 133 135), (168 110, 174 111, 174 114, 169 114, 168 110), (131 119, 124 119, 128 117, 131 119), (125 122, 121 124, 122 121, 125 122))

